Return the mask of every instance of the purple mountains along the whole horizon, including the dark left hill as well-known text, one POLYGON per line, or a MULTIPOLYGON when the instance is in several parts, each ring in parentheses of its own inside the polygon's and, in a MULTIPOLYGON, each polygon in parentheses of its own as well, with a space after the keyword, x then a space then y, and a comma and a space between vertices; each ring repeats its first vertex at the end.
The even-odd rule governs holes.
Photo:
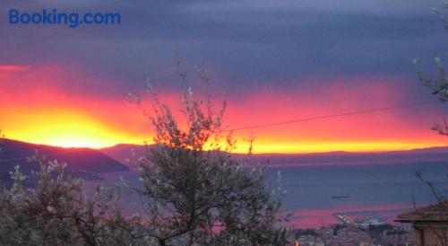
MULTIPOLYGON (((135 169, 135 160, 143 156, 155 145, 115 145, 93 150, 90 148, 62 148, 48 145, 4 139, 4 147, 0 152, 0 176, 12 171, 17 164, 22 171, 36 170, 36 163, 29 163, 26 156, 38 151, 47 155, 48 159, 56 159, 67 163, 67 170, 72 173, 83 173, 83 176, 101 172, 129 171, 135 169)), ((244 158, 246 154, 234 154, 244 158)), ((254 163, 270 163, 274 165, 333 165, 363 163, 429 163, 447 162, 448 146, 430 147, 409 151, 392 151, 382 153, 348 153, 331 152, 318 154, 254 154, 254 163)))

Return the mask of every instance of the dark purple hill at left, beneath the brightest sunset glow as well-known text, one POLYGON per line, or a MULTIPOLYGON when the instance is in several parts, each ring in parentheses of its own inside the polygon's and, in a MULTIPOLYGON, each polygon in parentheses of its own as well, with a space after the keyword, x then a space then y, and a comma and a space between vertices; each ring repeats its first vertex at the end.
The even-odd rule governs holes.
POLYGON ((108 157, 106 154, 90 148, 62 148, 48 145, 34 145, 21 141, 2 139, 4 143, 0 152, 0 174, 12 171, 15 165, 21 166, 21 171, 38 170, 37 163, 27 160, 36 152, 44 154, 47 159, 56 159, 59 163, 67 164, 67 171, 82 176, 94 173, 129 171, 129 167, 108 157))

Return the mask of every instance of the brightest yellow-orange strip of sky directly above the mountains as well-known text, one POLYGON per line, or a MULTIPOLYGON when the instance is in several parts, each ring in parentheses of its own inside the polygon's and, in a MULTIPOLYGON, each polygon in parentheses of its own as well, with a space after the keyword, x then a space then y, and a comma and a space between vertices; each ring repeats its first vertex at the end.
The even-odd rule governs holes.
MULTIPOLYGON (((32 144, 100 149, 118 144, 142 145, 152 142, 151 123, 138 113, 134 114, 133 124, 120 123, 120 119, 112 122, 82 110, 67 108, 6 113, 4 119, 3 129, 7 138, 32 144)), ((340 119, 341 122, 344 120, 340 119)), ((314 135, 316 129, 313 125, 293 125, 237 131, 233 135, 237 139, 235 152, 246 153, 249 146, 245 139, 252 132, 256 136, 255 154, 385 152, 446 145, 444 137, 435 135, 429 129, 425 129, 426 132, 416 139, 401 139, 398 137, 400 135, 382 137, 378 131, 361 135, 355 129, 351 135, 323 137, 314 135), (297 134, 295 129, 302 127, 305 132, 297 134)), ((222 145, 225 145, 224 141, 222 145)))

